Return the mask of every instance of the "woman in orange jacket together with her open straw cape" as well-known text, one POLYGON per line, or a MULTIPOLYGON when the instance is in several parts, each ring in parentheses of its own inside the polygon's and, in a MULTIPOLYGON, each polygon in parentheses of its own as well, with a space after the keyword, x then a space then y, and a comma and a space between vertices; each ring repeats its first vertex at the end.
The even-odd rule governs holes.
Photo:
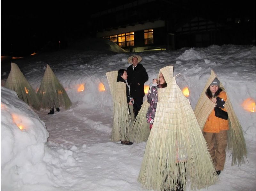
POLYGON ((195 115, 203 130, 217 175, 224 169, 227 145, 232 151, 231 165, 244 163, 246 145, 242 127, 223 85, 213 71, 196 104, 195 115), (226 111, 225 116, 218 115, 218 111, 226 111))

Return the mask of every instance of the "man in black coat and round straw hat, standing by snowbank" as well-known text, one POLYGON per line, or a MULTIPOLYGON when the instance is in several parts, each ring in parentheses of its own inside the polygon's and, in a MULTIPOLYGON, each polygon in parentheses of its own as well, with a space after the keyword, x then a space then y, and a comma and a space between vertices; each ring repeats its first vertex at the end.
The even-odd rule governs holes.
POLYGON ((128 58, 130 65, 127 68, 127 83, 130 86, 130 95, 132 96, 134 117, 138 115, 141 105, 143 103, 144 93, 144 83, 148 81, 148 73, 146 69, 139 64, 142 60, 140 56, 131 56, 128 58))

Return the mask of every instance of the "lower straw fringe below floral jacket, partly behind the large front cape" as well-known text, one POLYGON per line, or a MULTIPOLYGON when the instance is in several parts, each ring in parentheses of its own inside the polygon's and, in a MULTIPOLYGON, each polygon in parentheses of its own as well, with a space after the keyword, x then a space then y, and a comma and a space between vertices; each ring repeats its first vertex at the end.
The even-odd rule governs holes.
POLYGON ((145 100, 132 124, 132 141, 135 143, 146 142, 150 134, 149 123, 146 120, 149 103, 145 100))

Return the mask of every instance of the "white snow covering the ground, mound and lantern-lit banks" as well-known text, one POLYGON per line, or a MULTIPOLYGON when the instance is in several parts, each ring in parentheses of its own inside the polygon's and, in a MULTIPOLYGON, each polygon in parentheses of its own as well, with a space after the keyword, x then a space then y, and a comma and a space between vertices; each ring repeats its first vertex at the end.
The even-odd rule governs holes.
POLYGON ((145 85, 156 78, 160 68, 173 65, 173 75, 180 73, 177 84, 189 89, 193 109, 211 69, 217 74, 243 127, 248 154, 245 164, 231 166, 231 153, 227 151, 219 182, 202 190, 255 190, 255 113, 242 106, 247 98, 255 101, 255 46, 116 53, 83 50, 81 44, 79 49, 11 60, 35 90, 46 64, 50 65, 73 103, 70 109, 60 108, 53 115, 47 114, 49 110, 34 110, 14 91, 2 87, 10 72, 2 62, 2 190, 144 190, 137 178, 146 142, 128 146, 110 141, 112 97, 106 72, 127 69, 127 58, 132 55, 142 57, 141 64, 149 76, 145 85), (105 91, 99 91, 100 83, 105 91), (77 92, 80 84, 84 84, 84 91, 77 92))

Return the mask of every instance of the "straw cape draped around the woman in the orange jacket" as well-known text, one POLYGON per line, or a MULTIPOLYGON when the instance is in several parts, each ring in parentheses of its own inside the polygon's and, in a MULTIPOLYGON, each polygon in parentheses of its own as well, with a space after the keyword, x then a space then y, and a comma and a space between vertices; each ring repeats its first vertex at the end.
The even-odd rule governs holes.
MULTIPOLYGON (((195 115, 198 121, 198 124, 201 130, 204 129, 204 124, 215 107, 215 104, 206 96, 206 89, 210 86, 212 81, 218 78, 217 75, 211 71, 210 78, 208 79, 203 92, 201 93, 199 100, 196 104, 195 115)), ((222 83, 220 82, 220 88, 225 90, 222 83)), ((227 94, 227 101, 225 103, 225 108, 228 111, 228 120, 229 120, 229 130, 228 130, 228 149, 232 152, 232 162, 231 165, 234 164, 242 164, 244 163, 244 157, 246 157, 246 144, 244 140, 243 129, 240 125, 238 118, 233 110, 232 104, 227 94)))

